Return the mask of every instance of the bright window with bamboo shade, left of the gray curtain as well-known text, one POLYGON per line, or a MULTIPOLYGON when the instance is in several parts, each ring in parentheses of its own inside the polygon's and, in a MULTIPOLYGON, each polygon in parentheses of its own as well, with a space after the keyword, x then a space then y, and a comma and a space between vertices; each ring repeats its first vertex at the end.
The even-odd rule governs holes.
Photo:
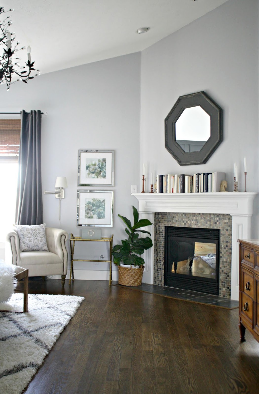
POLYGON ((0 242, 15 223, 21 119, 0 119, 0 242))

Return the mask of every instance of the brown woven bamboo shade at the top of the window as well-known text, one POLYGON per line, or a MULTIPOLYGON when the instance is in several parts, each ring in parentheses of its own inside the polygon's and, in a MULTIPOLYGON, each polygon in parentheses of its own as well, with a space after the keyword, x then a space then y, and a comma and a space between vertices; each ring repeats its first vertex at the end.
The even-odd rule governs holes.
POLYGON ((0 119, 0 161, 18 162, 21 119, 0 119))

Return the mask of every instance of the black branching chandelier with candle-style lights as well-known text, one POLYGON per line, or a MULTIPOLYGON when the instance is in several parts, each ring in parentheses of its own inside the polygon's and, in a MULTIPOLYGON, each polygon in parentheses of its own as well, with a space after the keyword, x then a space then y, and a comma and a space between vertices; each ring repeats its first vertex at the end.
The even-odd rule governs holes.
MULTIPOLYGON (((1 15, 9 11, 14 11, 14 9, 11 8, 5 11, 3 7, 0 7, 0 18, 2 19, 1 15)), ((17 56, 17 51, 24 50, 25 46, 18 48, 20 43, 19 41, 15 41, 15 33, 9 32, 9 26, 12 24, 10 18, 11 17, 8 16, 4 20, 0 20, 0 34, 2 33, 2 36, 0 35, 0 45, 4 46, 4 52, 0 55, 0 84, 6 82, 7 90, 9 90, 10 85, 14 84, 16 81, 21 80, 27 84, 29 79, 33 79, 34 76, 41 73, 41 71, 34 68, 34 61, 31 61, 30 46, 27 48, 28 61, 27 63, 24 62, 25 66, 19 64, 20 58, 13 57, 17 56), (34 75, 31 76, 31 73, 34 75), (12 78, 17 78, 17 76, 19 78, 12 82, 12 78)))

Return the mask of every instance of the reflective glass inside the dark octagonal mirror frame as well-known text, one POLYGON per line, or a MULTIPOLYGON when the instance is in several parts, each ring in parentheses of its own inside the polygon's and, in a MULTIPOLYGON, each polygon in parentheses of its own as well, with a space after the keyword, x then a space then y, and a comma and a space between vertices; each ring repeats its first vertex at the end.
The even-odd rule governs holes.
POLYGON ((175 122, 175 141, 184 152, 199 152, 210 138, 210 115, 201 106, 185 108, 175 122))

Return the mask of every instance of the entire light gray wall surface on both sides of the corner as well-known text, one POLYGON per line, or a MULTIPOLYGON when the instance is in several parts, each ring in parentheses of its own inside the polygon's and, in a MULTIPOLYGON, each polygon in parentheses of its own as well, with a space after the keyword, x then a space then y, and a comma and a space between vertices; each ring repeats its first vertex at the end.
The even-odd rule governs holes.
MULTIPOLYGON (((258 20, 257 0, 229 0, 141 55, 43 74, 28 85, 12 85, 9 92, 1 86, 3 112, 48 112, 42 119, 43 190, 54 190, 56 176, 67 177, 68 189, 60 223, 58 200, 43 196, 47 225, 79 235, 75 225, 78 149, 115 150, 114 227, 103 229, 104 236, 113 232, 114 243, 124 238, 125 226, 117 214, 131 217, 131 204, 137 206, 130 186, 137 183, 138 191, 142 189, 142 163, 147 175, 151 170, 223 171, 232 191, 235 161, 244 190, 246 156, 247 190, 258 191, 258 20), (201 90, 223 108, 224 140, 205 165, 180 167, 164 147, 164 119, 180 95, 201 90)), ((255 237, 257 206, 256 201, 255 237)), ((98 249, 98 255, 107 253, 107 248, 98 249)), ((87 256, 96 254, 89 245, 87 256)), ((107 264, 77 263, 77 267, 107 269, 107 264)))

